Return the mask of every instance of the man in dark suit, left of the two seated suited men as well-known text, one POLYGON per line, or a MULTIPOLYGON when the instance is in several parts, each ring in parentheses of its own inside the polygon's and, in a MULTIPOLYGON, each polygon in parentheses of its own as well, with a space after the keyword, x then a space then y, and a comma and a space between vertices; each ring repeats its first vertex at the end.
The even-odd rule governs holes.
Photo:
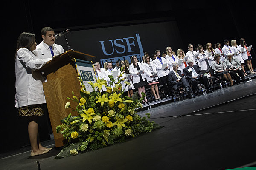
POLYGON ((189 98, 195 98, 195 95, 193 94, 193 91, 189 86, 188 80, 184 77, 181 78, 181 72, 178 71, 179 65, 177 63, 173 63, 172 67, 173 70, 170 71, 168 74, 169 84, 172 85, 172 89, 177 90, 178 86, 183 86, 184 88, 186 88, 189 98))

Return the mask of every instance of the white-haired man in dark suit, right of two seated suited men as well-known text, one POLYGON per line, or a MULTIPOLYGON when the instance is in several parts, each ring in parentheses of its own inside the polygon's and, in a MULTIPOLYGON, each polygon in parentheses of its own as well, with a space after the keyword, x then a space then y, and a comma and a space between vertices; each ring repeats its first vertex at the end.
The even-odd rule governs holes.
POLYGON ((202 74, 199 70, 197 65, 194 65, 194 62, 192 59, 188 59, 188 66, 183 69, 184 76, 187 76, 186 79, 188 79, 189 84, 192 85, 192 90, 195 93, 196 91, 196 85, 197 81, 202 82, 206 87, 206 93, 212 93, 213 91, 210 90, 209 82, 206 76, 198 74, 202 74))

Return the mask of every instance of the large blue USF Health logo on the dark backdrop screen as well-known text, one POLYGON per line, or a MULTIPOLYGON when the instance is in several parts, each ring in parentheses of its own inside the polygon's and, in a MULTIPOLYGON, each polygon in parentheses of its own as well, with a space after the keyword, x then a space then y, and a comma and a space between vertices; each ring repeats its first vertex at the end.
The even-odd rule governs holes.
POLYGON ((99 41, 99 43, 106 58, 100 60, 102 68, 104 68, 104 62, 112 62, 113 65, 116 65, 115 61, 128 60, 131 63, 132 56, 137 56, 138 62, 141 62, 141 58, 144 55, 139 34, 135 34, 133 37, 103 40, 99 41))

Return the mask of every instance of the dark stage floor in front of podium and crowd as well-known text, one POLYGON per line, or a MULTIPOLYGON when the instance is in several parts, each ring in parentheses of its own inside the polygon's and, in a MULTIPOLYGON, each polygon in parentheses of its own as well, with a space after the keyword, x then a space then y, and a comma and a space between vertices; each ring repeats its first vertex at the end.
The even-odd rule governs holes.
MULTIPOLYGON (((166 102, 151 110, 164 126, 124 143, 54 160, 49 153, 30 157, 30 147, 0 154, 1 170, 223 170, 256 166, 256 79, 194 99, 166 102)), ((145 116, 148 110, 138 112, 145 116)), ((54 142, 53 142, 54 143, 54 142)))

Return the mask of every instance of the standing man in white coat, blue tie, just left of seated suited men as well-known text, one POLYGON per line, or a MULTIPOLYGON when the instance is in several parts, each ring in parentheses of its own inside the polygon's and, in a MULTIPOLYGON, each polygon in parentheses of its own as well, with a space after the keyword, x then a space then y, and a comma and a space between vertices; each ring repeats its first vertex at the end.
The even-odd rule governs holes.
POLYGON ((172 87, 169 85, 169 81, 168 81, 168 73, 169 73, 168 65, 164 69, 162 69, 162 65, 166 63, 168 64, 168 61, 165 58, 161 57, 160 50, 156 50, 156 54, 157 54, 157 58, 154 60, 154 65, 157 70, 157 75, 162 82, 163 90, 164 90, 164 93, 166 94, 166 97, 169 97, 172 94, 172 87))

